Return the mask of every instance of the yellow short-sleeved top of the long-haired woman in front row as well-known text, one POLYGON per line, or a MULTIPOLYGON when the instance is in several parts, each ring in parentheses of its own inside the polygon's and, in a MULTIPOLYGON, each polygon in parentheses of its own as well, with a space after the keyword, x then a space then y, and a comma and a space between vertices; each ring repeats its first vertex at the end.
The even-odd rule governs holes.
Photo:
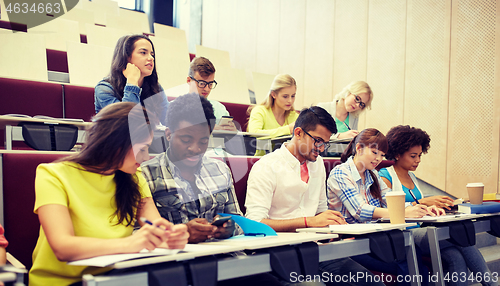
MULTIPOLYGON (((141 197, 151 197, 151 191, 141 170, 135 176, 141 197)), ((35 178, 35 210, 56 204, 68 208, 76 236, 121 238, 132 234, 133 226, 116 225, 117 217, 114 175, 86 171, 73 162, 40 164, 35 178)), ((109 268, 70 266, 59 261, 40 227, 40 235, 33 251, 30 285, 69 285, 82 280, 83 274, 100 274, 109 268)))

